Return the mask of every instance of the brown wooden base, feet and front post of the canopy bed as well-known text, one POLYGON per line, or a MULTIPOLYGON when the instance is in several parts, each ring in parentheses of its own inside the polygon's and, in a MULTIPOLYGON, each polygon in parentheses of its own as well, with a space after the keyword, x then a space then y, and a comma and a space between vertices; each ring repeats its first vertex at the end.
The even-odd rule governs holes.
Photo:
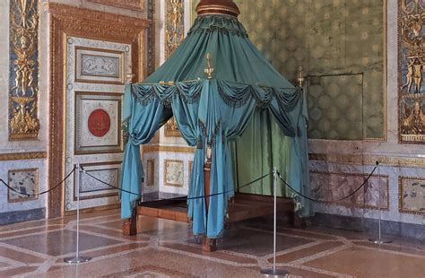
MULTIPOLYGON (((205 195, 210 195, 210 167, 211 163, 207 161, 204 167, 204 177, 205 181, 207 181, 205 182, 205 195)), ((205 198, 205 202, 208 207, 208 198, 205 198)), ((278 197, 277 211, 279 215, 290 214, 293 216, 293 203, 291 199, 278 197)), ((273 196, 236 193, 230 200, 228 213, 229 219, 227 223, 273 214, 273 196)), ((133 217, 131 219, 124 221, 124 235, 134 236, 137 234, 136 221, 138 215, 168 219, 177 222, 189 222, 187 218, 186 200, 171 198, 167 200, 145 202, 134 208, 133 217)), ((294 219, 293 222, 296 222, 296 220, 294 219)), ((217 250, 216 239, 204 237, 202 249, 208 252, 217 250)))

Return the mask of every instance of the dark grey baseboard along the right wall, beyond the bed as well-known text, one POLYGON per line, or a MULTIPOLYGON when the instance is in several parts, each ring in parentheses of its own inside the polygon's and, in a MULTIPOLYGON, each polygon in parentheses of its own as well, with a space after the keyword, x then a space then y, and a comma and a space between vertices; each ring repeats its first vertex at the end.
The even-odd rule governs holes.
MULTIPOLYGON (((343 230, 355 230, 377 234, 378 221, 371 218, 360 218, 327 213, 316 213, 312 218, 316 226, 330 227, 343 230)), ((425 229, 421 224, 381 221, 382 235, 425 240, 425 229)))

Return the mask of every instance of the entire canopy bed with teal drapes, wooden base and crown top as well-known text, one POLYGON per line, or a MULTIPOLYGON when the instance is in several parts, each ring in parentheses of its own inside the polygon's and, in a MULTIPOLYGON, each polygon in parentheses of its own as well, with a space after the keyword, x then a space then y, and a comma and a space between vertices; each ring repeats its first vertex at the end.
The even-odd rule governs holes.
MULTIPOLYGON (((143 83, 126 85, 123 118, 128 142, 121 217, 127 235, 135 233, 138 214, 191 222, 195 235, 205 235, 204 249, 213 250, 225 222, 273 213, 268 196, 235 195, 231 152, 253 119, 267 117, 268 125, 273 120, 282 142, 286 136, 282 174, 292 187, 308 194, 307 108, 303 90, 282 77, 248 39, 233 1, 203 0, 196 12, 194 25, 173 56, 143 83), (140 145, 172 115, 186 143, 195 147, 186 207, 181 199, 138 206, 140 196, 128 192, 141 192, 140 145)), ((295 209, 300 216, 309 215, 309 204, 292 197, 280 200, 280 212, 295 209)))

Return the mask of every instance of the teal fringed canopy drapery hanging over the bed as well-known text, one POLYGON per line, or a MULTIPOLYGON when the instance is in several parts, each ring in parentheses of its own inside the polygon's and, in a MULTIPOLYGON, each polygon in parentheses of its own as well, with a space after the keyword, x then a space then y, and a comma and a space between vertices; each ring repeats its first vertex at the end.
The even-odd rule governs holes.
MULTIPOLYGON (((290 182, 301 192, 308 190, 303 91, 274 70, 247 39, 237 18, 199 16, 174 55, 143 83, 127 85, 125 98, 123 119, 129 119, 129 141, 122 169, 123 189, 140 192, 143 168, 140 154, 136 154, 138 145, 152 137, 172 109, 186 143, 196 146, 188 194, 188 215, 195 234, 221 235, 228 200, 234 195, 230 142, 242 135, 256 109, 265 109, 283 134, 291 137, 290 182), (207 53, 212 56, 212 79, 204 76, 207 53), (212 148, 208 213, 202 198, 206 144, 212 148)), ((131 215, 136 198, 122 193, 123 218, 131 215)), ((310 213, 306 203, 299 208, 302 215, 310 213)))

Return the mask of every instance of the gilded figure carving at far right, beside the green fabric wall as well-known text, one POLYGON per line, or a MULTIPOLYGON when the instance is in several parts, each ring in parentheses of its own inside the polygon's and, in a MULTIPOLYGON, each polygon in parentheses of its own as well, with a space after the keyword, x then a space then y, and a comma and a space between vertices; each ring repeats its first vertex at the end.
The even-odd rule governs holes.
POLYGON ((425 2, 398 2, 398 90, 401 143, 425 143, 425 2))

